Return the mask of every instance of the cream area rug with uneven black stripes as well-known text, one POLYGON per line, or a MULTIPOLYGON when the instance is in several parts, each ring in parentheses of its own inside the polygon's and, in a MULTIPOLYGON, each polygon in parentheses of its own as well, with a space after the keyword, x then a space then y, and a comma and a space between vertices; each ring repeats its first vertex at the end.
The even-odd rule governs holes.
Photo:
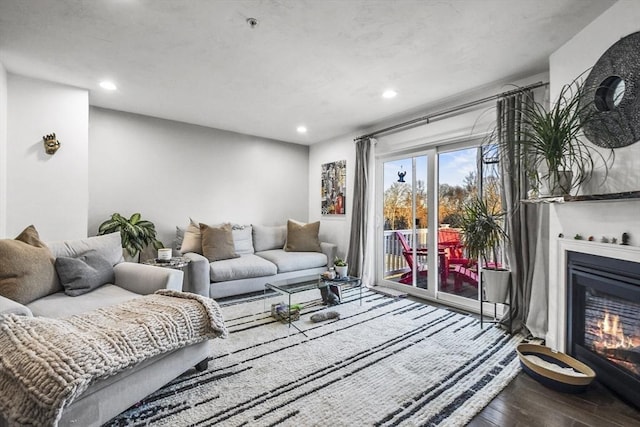
POLYGON ((518 373, 520 337, 473 316, 357 290, 323 306, 296 294, 295 327, 262 296, 223 302, 230 336, 209 367, 176 379, 110 425, 462 426, 518 373), (311 315, 335 310, 321 323, 311 315))

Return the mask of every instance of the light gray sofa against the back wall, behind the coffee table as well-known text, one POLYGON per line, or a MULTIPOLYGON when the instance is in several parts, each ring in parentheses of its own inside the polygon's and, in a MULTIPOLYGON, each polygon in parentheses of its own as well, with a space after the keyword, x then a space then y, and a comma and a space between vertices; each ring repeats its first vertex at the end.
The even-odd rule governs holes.
POLYGON ((177 248, 191 260, 185 290, 214 299, 262 291, 275 280, 319 275, 332 266, 337 251, 336 245, 326 242, 320 242, 320 252, 286 251, 286 225, 245 225, 233 227, 233 243, 240 256, 210 262, 192 245, 182 245, 187 238, 184 233, 178 229, 177 248))

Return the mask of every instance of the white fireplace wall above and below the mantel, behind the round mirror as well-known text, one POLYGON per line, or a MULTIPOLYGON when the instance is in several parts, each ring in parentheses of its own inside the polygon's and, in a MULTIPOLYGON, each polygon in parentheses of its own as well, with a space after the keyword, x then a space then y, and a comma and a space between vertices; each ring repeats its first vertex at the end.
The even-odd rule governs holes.
MULTIPOLYGON (((600 56, 620 38, 638 31, 640 3, 620 0, 596 18, 580 33, 550 57, 551 100, 557 97, 562 85, 570 83, 592 67, 600 56)), ((581 189, 583 194, 599 194, 640 190, 640 143, 615 150, 616 160, 604 185, 592 183, 581 189)), ((566 238, 581 234, 616 237, 622 233, 631 235, 631 245, 640 246, 640 201, 575 202, 553 205, 549 208, 549 333, 548 345, 563 348, 564 337, 557 336, 557 322, 564 318, 554 301, 557 292, 563 292, 564 283, 557 281, 559 270, 564 268, 563 255, 558 251, 558 235, 566 238)))

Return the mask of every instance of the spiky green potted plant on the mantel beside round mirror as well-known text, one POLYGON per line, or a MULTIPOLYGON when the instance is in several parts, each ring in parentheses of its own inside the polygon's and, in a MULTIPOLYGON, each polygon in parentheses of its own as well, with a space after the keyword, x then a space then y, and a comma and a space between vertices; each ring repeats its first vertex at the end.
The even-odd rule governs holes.
POLYGON ((561 88, 549 109, 535 100, 527 102, 516 141, 500 141, 501 145, 520 146, 531 187, 539 188, 541 195, 569 194, 592 178, 596 166, 606 178, 614 159, 613 148, 597 150, 584 136, 585 125, 599 120, 594 103, 585 98, 585 88, 576 79, 561 88))

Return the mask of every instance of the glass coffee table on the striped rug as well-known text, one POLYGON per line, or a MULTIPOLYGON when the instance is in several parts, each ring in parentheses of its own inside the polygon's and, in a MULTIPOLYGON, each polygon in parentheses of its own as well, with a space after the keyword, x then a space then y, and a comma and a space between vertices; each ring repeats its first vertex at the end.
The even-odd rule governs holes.
MULTIPOLYGON (((284 295, 288 298, 288 307, 291 307, 291 297, 300 292, 311 291, 313 289, 320 289, 321 295, 323 289, 330 290, 336 294, 338 300, 342 302, 342 290, 344 288, 360 288, 360 305, 362 305, 362 281, 357 277, 347 276, 342 279, 326 279, 320 275, 296 277, 292 279, 274 280, 264 285, 264 302, 266 304, 267 292, 276 291, 280 295, 284 295)), ((324 299, 324 298, 323 298, 324 299)), ((326 301, 325 301, 326 302, 326 301)), ((298 331, 300 330, 295 324, 292 323, 291 312, 289 313, 288 324, 289 327, 293 325, 298 331)))

